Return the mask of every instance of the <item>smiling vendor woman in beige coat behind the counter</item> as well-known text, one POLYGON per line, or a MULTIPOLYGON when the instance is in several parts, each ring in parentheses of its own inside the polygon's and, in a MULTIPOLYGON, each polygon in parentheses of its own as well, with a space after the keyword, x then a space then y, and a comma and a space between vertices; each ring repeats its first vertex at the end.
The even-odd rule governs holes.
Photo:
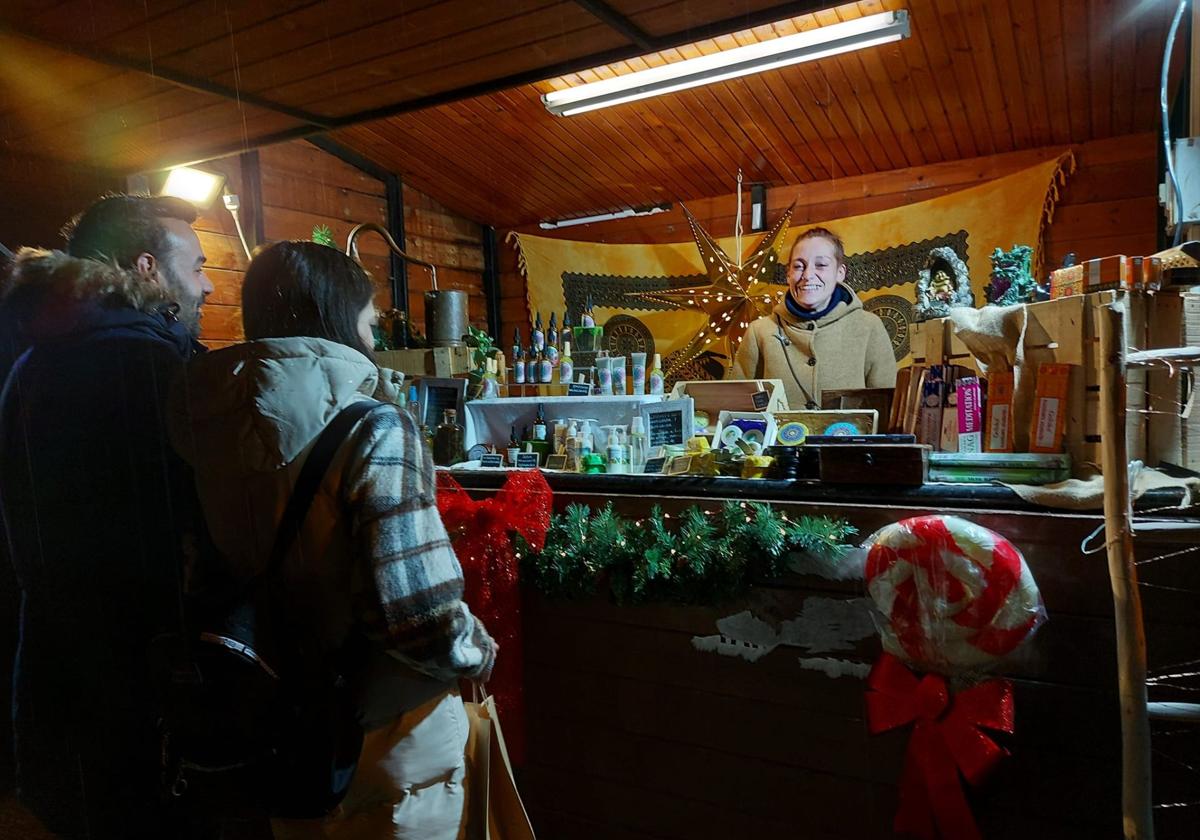
POLYGON ((895 386, 883 322, 845 281, 841 239, 824 228, 802 233, 787 262, 787 295, 750 325, 730 377, 781 379, 793 410, 821 408, 823 390, 895 386))

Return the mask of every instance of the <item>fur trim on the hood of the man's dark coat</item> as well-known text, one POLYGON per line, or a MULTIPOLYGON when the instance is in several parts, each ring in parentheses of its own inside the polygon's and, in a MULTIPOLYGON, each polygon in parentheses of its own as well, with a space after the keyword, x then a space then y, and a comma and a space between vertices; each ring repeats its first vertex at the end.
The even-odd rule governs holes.
POLYGON ((38 301, 95 301, 106 308, 139 312, 157 312, 172 304, 163 287, 136 271, 44 248, 17 252, 5 298, 16 295, 38 301))

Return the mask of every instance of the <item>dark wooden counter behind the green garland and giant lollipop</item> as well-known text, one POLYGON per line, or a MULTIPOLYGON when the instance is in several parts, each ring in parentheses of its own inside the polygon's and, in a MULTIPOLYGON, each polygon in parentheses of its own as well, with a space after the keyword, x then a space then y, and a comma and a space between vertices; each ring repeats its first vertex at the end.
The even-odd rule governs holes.
MULTIPOLYGON (((486 493, 503 474, 456 478, 486 493)), ((612 500, 629 515, 703 500, 763 498, 788 512, 844 516, 868 535, 908 516, 954 512, 1010 539, 1049 620, 1006 662, 1015 683, 1013 755, 970 799, 984 838, 1120 836, 1120 732, 1112 602, 1103 553, 1080 542, 1096 514, 1036 509, 1002 487, 829 488, 727 479, 550 475, 556 510, 612 500)), ((1144 499, 1144 516, 1177 497, 1144 499)), ((1136 540, 1148 559, 1192 545, 1136 540)), ((1200 656, 1195 553, 1141 566, 1151 668, 1200 656), (1153 586, 1150 586, 1153 584, 1153 586), (1166 588, 1156 588, 1166 587, 1166 588)), ((720 607, 617 606, 524 599, 528 762, 518 781, 541 840, 889 838, 911 730, 871 737, 860 677, 832 678, 800 658, 870 664, 877 635, 844 650, 780 647, 756 662, 697 650, 742 610, 779 624, 810 599, 857 599, 862 581, 791 576, 720 607)), ((1153 694, 1152 698, 1168 697, 1153 694)), ((1156 731, 1157 732, 1157 731, 1156 731)), ((1154 800, 1195 799, 1200 734, 1154 743, 1154 800), (1186 740, 1190 738, 1190 740, 1186 740), (1189 757, 1190 756, 1190 757, 1189 757)), ((1157 812, 1159 836, 1194 836, 1194 809, 1157 812), (1190 821, 1190 822, 1189 822, 1190 821)))

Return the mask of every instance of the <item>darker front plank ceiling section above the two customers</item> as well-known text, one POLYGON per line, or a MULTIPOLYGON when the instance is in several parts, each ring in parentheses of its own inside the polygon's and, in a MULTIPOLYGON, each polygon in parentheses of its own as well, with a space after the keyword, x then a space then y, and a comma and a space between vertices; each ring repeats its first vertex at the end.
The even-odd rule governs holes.
MULTIPOLYGON (((619 4, 658 36, 646 46, 821 5, 619 4)), ((584 0, 5 0, 0 148, 154 169, 646 52, 598 17, 606 8, 584 0)))

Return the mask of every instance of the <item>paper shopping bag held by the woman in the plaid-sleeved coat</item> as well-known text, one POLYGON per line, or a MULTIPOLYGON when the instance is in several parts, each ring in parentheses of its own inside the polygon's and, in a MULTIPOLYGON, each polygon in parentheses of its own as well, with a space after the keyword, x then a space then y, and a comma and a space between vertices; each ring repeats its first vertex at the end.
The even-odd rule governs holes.
POLYGON ((464 703, 467 737, 467 808, 463 840, 535 840, 529 815, 512 779, 496 702, 464 703))

